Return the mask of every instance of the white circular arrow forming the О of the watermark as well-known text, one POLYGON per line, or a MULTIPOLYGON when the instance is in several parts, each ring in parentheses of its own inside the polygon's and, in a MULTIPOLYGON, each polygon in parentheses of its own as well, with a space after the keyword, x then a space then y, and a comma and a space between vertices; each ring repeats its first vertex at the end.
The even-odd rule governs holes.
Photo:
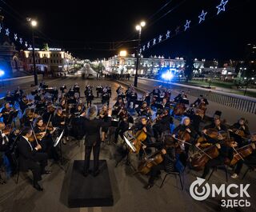
POLYGON ((205 181, 206 180, 203 178, 197 178, 197 180, 194 181, 190 186, 190 195, 197 201, 203 201, 210 195, 210 185, 206 183, 204 186, 202 186, 202 183, 205 181), (200 186, 202 186, 201 192, 198 191, 200 186))

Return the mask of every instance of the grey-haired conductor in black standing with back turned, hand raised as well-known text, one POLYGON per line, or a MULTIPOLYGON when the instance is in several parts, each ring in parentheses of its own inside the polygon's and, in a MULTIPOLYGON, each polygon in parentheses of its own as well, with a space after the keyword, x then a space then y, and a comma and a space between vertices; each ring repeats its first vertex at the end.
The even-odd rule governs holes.
POLYGON ((86 118, 83 119, 82 126, 84 128, 85 138, 85 163, 83 169, 83 175, 87 177, 90 168, 90 154, 91 150, 94 153, 94 170, 93 175, 96 177, 99 174, 98 160, 101 145, 100 128, 104 126, 110 126, 112 111, 108 110, 108 120, 104 122, 101 119, 97 119, 98 109, 97 106, 90 106, 87 110, 86 118))

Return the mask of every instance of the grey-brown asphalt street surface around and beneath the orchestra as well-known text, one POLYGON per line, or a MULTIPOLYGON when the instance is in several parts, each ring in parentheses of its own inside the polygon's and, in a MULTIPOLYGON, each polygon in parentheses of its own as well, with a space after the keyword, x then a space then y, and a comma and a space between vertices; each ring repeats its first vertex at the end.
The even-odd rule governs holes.
MULTIPOLYGON (((110 106, 116 101, 116 92, 119 82, 114 82, 110 80, 100 79, 100 80, 83 80, 81 76, 74 75, 67 78, 57 78, 57 79, 46 79, 46 84, 49 86, 60 87, 66 84, 67 88, 74 86, 75 82, 78 82, 80 86, 81 94, 84 96, 83 91, 86 85, 90 84, 95 87, 98 85, 108 85, 112 89, 112 98, 110 106)), ((130 83, 130 82, 128 82, 130 83)), ((21 86, 25 90, 25 94, 29 93, 31 90, 30 84, 26 80, 21 80, 17 84, 13 83, 10 86, 5 86, 1 92, 4 93, 6 90, 14 90, 16 86, 21 86)), ((122 84, 123 86, 123 84, 122 84)), ((145 84, 139 82, 139 87, 142 90, 152 90, 153 84, 145 84)), ((125 86, 126 88, 126 86, 125 86)), ((177 94, 177 90, 172 92, 172 98, 177 94)), ((140 92, 139 95, 142 95, 140 92)), ((195 99, 193 97, 193 99, 195 99)), ((209 111, 210 113, 218 108, 211 108, 210 102, 209 111)), ((240 118, 240 114, 235 114, 233 117, 235 120, 240 118)), ((231 117, 230 117, 231 119, 231 117)), ((231 119, 232 121, 234 119, 231 119)), ((178 121, 175 121, 178 123, 178 121)), ((250 126, 250 123, 249 123, 250 126)), ((250 126, 254 127, 254 126, 250 126)), ((70 183, 70 171, 72 169, 73 161, 76 159, 84 158, 84 146, 83 142, 78 146, 78 142, 72 140, 68 142, 66 146, 63 146, 64 158, 68 159, 65 165, 66 172, 62 170, 56 164, 50 162, 49 169, 53 171, 52 174, 44 176, 42 180, 42 186, 44 187, 43 192, 38 192, 30 185, 30 180, 27 178, 27 174, 21 174, 18 185, 15 184, 14 178, 10 178, 6 185, 0 185, 0 211, 3 212, 66 212, 66 211, 103 211, 103 212, 159 212, 159 211, 228 211, 222 208, 220 198, 208 198, 206 201, 198 202, 190 197, 190 185, 196 177, 201 175, 201 172, 195 172, 189 170, 185 171, 185 185, 184 190, 181 190, 181 186, 178 178, 174 176, 168 176, 166 182, 162 188, 160 188, 161 179, 158 179, 156 185, 150 189, 145 190, 147 182, 147 176, 141 174, 134 174, 134 171, 130 166, 125 164, 120 164, 118 167, 114 167, 117 160, 116 146, 114 145, 104 145, 102 146, 100 158, 106 159, 109 171, 110 171, 110 181, 112 185, 112 190, 114 192, 114 206, 113 207, 102 207, 102 208, 77 208, 70 209, 67 206, 67 190, 70 183)), ((136 166, 138 158, 136 155, 131 155, 131 161, 136 166)), ((242 174, 246 171, 246 166, 242 169, 242 174)), ((242 176, 241 174, 241 176, 242 176)), ((31 174, 28 174, 31 178, 31 174)), ((163 174, 162 174, 163 178, 163 174)), ((228 178, 229 181, 226 183, 225 173, 223 170, 215 171, 212 178, 210 178, 209 183, 216 183, 216 185, 221 185, 226 183, 250 183, 250 188, 248 193, 250 194, 250 207, 238 208, 236 211, 255 211, 256 210, 256 180, 255 172, 246 175, 246 178, 242 180, 241 178, 233 179, 228 178)), ((231 211, 231 210, 230 210, 231 211)))

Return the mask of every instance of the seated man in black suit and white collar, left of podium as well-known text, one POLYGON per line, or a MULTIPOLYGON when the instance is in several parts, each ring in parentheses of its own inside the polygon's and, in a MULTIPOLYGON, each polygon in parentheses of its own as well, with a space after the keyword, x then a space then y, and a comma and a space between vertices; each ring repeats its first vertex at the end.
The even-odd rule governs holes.
POLYGON ((38 181, 42 180, 42 174, 51 173, 49 170, 45 169, 47 166, 47 154, 38 152, 42 149, 40 144, 33 145, 33 143, 29 141, 29 138, 32 136, 32 130, 30 128, 26 127, 22 129, 21 135, 18 142, 20 170, 31 170, 33 173, 34 188, 42 191, 42 186, 38 184, 38 181))

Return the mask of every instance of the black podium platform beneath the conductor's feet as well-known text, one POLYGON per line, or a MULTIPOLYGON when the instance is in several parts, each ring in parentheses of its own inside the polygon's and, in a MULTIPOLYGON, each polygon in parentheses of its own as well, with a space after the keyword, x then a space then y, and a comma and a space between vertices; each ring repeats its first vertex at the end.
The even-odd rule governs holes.
MULTIPOLYGON (((83 161, 74 161, 68 194, 69 207, 113 206, 113 194, 106 160, 100 160, 100 174, 82 175, 83 161)), ((90 161, 90 169, 93 161, 90 161)))

